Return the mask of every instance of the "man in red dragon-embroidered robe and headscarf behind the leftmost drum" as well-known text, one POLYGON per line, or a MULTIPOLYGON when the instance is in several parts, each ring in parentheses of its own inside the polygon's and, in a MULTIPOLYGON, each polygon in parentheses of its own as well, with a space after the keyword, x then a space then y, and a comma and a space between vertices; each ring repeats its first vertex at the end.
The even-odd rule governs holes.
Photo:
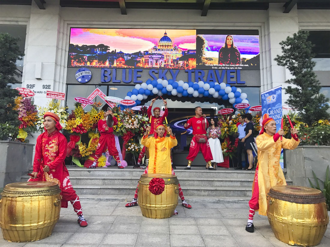
POLYGON ((46 112, 44 115, 44 128, 46 131, 37 138, 33 172, 29 181, 57 183, 62 191, 61 207, 68 207, 68 201, 70 201, 78 215, 79 225, 86 227, 88 223, 83 217, 79 197, 72 187, 68 169, 64 164, 67 140, 59 132, 62 129, 59 120, 60 118, 52 112, 46 112))

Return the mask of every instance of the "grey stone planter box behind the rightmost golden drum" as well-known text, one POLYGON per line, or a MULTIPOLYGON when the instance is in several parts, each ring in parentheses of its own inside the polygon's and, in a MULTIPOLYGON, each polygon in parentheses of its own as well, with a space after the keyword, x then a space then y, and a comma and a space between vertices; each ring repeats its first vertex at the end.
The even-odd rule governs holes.
POLYGON ((311 187, 308 178, 315 185, 312 170, 317 178, 325 179, 325 170, 330 166, 330 146, 299 146, 295 150, 284 150, 286 178, 292 184, 311 187))

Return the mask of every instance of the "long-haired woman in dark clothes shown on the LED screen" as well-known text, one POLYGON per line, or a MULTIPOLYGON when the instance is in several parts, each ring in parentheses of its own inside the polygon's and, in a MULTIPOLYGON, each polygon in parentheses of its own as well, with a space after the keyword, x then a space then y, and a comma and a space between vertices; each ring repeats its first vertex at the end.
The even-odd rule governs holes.
POLYGON ((218 64, 241 64, 241 53, 235 47, 233 36, 227 35, 225 44, 219 50, 218 64))

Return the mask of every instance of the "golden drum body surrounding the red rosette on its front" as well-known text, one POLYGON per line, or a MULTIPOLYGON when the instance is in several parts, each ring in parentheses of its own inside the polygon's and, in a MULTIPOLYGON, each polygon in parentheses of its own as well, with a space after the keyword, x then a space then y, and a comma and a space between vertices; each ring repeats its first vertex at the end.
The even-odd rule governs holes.
POLYGON ((165 219, 173 215, 178 205, 179 181, 177 176, 161 173, 143 174, 139 181, 138 204, 143 216, 152 219, 165 219), (149 191, 152 178, 162 178, 165 181, 164 191, 154 195, 149 191))

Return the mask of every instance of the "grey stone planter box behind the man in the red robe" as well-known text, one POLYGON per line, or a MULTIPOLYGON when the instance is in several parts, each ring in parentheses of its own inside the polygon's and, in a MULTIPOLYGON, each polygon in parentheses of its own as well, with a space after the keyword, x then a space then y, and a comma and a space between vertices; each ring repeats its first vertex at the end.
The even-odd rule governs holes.
POLYGON ((0 188, 19 182, 32 166, 33 144, 0 141, 0 188))

